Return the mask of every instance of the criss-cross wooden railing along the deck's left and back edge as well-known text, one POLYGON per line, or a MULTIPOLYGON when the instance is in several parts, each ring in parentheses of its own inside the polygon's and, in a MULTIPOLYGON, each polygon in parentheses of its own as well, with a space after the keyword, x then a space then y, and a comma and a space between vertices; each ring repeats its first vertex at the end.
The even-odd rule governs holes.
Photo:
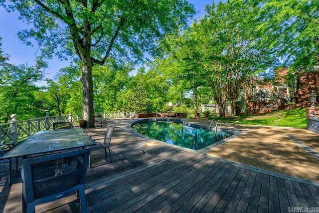
MULTIPOLYGON (((95 114, 95 116, 98 115, 108 119, 135 118, 135 112, 103 112, 95 114)), ((13 114, 10 122, 0 124, 0 145, 20 143, 38 131, 52 129, 53 123, 56 122, 79 123, 80 120, 82 120, 82 115, 72 115, 71 112, 64 116, 50 116, 49 113, 46 113, 46 116, 42 118, 21 121, 18 121, 17 115, 13 114)))

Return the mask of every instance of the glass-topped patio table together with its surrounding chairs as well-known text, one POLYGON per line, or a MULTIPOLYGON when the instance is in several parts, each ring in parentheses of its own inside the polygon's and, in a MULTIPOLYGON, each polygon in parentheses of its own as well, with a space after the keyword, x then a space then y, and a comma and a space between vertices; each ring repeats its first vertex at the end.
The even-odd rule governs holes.
POLYGON ((90 150, 103 148, 107 156, 108 149, 111 158, 114 125, 109 125, 105 134, 91 136, 82 128, 72 127, 69 122, 54 123, 53 130, 39 131, 1 156, 0 160, 9 162, 9 185, 11 159, 17 162, 22 157, 22 212, 34 212, 36 205, 75 192, 81 212, 86 212, 84 181, 88 165, 91 168, 90 150))

